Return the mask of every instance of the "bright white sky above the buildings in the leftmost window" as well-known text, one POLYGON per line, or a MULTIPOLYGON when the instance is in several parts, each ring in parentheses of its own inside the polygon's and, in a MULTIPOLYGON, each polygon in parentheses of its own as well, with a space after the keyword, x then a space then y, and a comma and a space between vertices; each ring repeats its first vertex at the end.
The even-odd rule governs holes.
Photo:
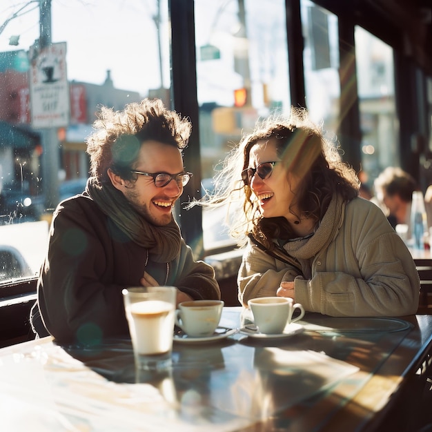
MULTIPOLYGON (((151 18, 154 5, 154 0, 52 0, 52 43, 68 43, 68 80, 103 84, 110 70, 116 88, 141 95, 159 88, 157 32, 151 18)), ((166 10, 163 12, 166 17, 166 10)), ((28 50, 40 34, 39 2, 1 0, 0 27, 6 21, 0 52, 28 50), (10 19, 19 10, 19 16, 10 19), (18 46, 9 45, 14 36, 19 36, 18 46)), ((164 84, 169 86, 166 33, 165 24, 161 26, 164 84)))

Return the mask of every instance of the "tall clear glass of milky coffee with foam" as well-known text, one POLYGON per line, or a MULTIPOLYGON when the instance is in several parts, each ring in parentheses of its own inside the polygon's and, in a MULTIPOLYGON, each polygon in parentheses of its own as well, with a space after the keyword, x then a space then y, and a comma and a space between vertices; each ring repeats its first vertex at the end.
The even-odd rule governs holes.
POLYGON ((141 369, 166 369, 171 364, 173 350, 177 288, 125 288, 123 296, 135 364, 141 369))

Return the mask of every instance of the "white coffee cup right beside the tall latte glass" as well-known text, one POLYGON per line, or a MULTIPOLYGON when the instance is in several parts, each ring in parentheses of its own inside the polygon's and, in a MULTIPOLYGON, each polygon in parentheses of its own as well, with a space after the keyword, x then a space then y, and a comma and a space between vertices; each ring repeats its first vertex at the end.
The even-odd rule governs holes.
POLYGON ((204 337, 215 333, 221 319, 222 300, 182 302, 175 311, 175 324, 188 336, 204 337))

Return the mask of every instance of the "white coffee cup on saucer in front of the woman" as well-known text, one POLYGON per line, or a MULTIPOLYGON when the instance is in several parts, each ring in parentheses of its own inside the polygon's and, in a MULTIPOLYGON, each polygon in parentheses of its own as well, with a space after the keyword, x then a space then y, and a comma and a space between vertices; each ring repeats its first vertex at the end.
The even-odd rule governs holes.
POLYGON ((249 300, 248 306, 260 333, 283 333, 287 324, 304 317, 303 306, 300 303, 294 303, 290 297, 258 297, 249 300), (296 309, 300 311, 300 315, 293 319, 296 309))

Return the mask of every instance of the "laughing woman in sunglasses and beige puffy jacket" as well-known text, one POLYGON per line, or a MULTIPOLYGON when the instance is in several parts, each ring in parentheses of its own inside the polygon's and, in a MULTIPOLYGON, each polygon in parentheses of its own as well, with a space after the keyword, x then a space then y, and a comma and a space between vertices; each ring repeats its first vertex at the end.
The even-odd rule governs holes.
POLYGON ((229 199, 231 209, 241 207, 230 214, 237 215, 232 235, 246 243, 237 279, 244 306, 278 295, 332 316, 417 311, 411 254, 382 210, 358 197, 354 170, 306 110, 257 124, 216 185, 208 204, 229 199))

